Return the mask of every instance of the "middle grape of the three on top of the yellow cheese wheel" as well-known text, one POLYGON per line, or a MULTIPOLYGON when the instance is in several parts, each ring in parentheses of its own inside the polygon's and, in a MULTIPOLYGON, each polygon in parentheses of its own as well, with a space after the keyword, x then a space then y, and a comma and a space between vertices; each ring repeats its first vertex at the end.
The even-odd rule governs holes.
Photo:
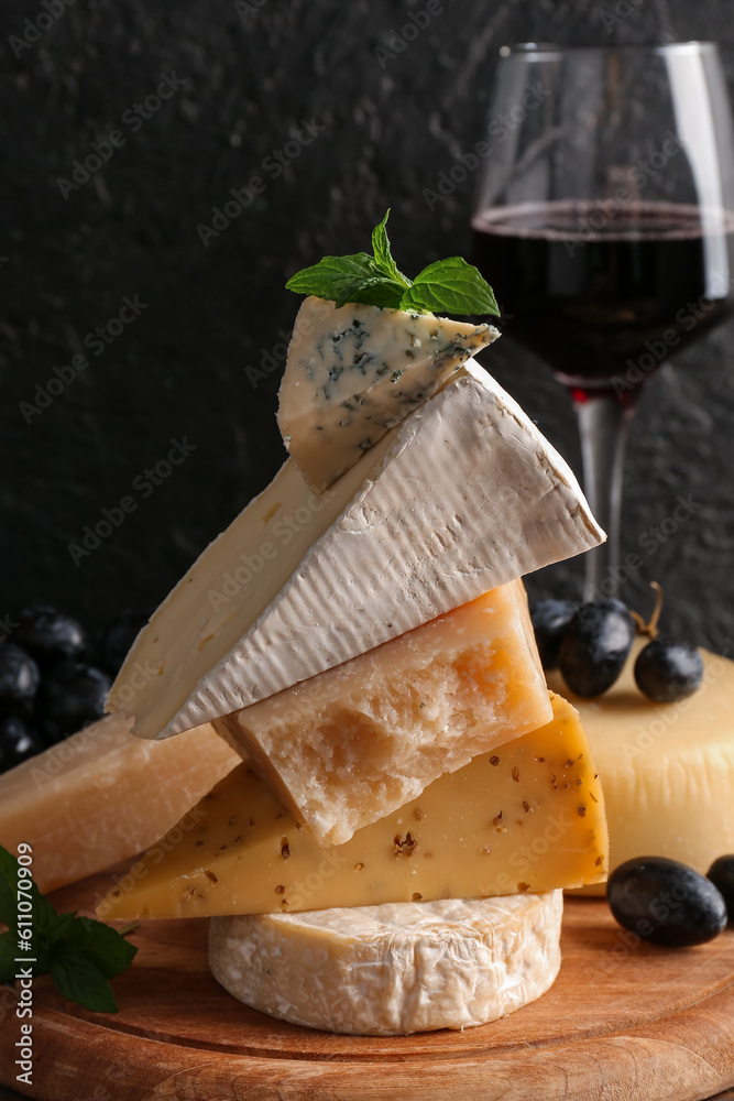
POLYGON ((600 696, 622 672, 635 621, 621 600, 592 600, 577 609, 561 642, 558 666, 577 696, 600 696))

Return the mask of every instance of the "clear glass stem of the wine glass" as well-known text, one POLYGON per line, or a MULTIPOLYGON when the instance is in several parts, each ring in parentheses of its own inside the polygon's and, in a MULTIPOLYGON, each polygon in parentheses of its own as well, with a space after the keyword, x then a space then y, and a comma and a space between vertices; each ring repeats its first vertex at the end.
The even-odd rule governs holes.
POLYGON ((583 599, 614 596, 618 584, 620 523, 624 453, 634 406, 606 394, 574 402, 583 480, 591 511, 606 532, 606 543, 585 556, 583 599))

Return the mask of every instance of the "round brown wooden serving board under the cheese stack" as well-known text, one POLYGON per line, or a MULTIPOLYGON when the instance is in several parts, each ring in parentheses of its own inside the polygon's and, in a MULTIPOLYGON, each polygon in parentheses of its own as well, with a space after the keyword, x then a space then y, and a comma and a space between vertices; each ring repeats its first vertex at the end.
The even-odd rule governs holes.
MULTIPOLYGON (((100 884, 54 902, 83 909, 100 884)), ((209 974, 205 920, 143 923, 131 939, 117 1015, 34 983, 33 1087, 15 1081, 19 1022, 4 1014, 1 1083, 37 1101, 701 1101, 734 1086, 732 930, 665 950, 628 939, 603 900, 570 898, 561 972, 537 1002, 463 1033, 387 1039, 235 1002, 209 974)))

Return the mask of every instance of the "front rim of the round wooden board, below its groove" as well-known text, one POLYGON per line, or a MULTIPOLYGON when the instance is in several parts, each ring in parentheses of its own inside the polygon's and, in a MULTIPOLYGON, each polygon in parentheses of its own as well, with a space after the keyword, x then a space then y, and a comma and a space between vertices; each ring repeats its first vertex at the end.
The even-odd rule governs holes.
POLYGON ((584 1037, 486 1058, 379 1064, 295 1060, 202 1051, 41 1011, 34 1024, 34 1084, 6 1072, 12 1034, 0 1037, 0 1082, 34 1101, 703 1101, 734 1087, 734 989, 695 1010, 625 1034, 584 1037), (117 1053, 110 1060, 114 1035, 117 1053), (100 1073, 99 1068, 105 1067, 100 1073), (53 1070, 53 1084, 51 1071, 53 1070))

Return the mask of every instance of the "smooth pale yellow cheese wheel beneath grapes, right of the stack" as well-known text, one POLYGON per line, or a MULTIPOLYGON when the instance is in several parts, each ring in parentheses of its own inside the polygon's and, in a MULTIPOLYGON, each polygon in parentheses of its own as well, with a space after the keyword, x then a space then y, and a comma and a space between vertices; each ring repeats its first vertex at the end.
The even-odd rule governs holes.
POLYGON ((670 857, 705 874, 734 852, 734 662, 702 651, 701 688, 653 704, 633 676, 643 645, 603 696, 573 697, 604 787, 610 871, 633 857, 670 857))

